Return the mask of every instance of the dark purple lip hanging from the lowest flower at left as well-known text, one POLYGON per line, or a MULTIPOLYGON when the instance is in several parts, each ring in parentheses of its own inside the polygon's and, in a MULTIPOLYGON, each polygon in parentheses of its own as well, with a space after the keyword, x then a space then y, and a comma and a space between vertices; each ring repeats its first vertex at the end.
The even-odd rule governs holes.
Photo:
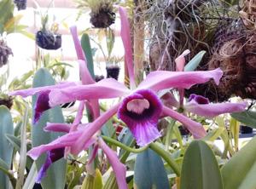
POLYGON ((49 169, 49 166, 52 163, 55 163, 59 159, 63 158, 64 155, 64 148, 56 148, 54 150, 51 150, 47 152, 47 158, 45 160, 45 163, 42 165, 41 169, 38 172, 38 178, 36 180, 36 183, 40 183, 41 180, 46 176, 46 171, 49 169))

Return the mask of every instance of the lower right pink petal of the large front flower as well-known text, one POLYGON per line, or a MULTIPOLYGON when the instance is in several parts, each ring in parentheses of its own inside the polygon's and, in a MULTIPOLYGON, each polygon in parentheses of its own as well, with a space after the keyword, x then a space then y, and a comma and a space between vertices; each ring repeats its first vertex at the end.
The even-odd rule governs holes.
POLYGON ((163 108, 163 113, 166 116, 170 116, 178 122, 183 123, 183 126, 185 126, 189 130, 189 132, 194 136, 195 139, 201 139, 207 135, 207 132, 203 128, 201 123, 197 123, 189 119, 189 117, 185 117, 183 114, 180 114, 166 106, 164 106, 163 108))

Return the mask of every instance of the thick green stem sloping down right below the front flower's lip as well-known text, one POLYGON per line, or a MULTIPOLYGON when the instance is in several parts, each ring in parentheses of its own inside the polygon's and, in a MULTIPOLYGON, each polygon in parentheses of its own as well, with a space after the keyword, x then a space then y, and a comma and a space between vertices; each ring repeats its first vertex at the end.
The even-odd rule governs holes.
POLYGON ((162 149, 160 146, 158 146, 155 143, 151 143, 149 147, 152 150, 154 150, 154 152, 156 152, 158 155, 160 155, 160 157, 165 159, 166 163, 170 165, 170 167, 172 168, 172 170, 175 172, 177 176, 181 175, 181 170, 178 164, 175 162, 175 160, 172 159, 172 157, 170 156, 170 153, 166 152, 164 149, 162 149))

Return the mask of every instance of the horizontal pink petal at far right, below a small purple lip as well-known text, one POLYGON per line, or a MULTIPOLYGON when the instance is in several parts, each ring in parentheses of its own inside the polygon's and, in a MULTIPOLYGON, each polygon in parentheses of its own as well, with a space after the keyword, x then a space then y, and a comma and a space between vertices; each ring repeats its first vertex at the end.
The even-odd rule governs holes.
POLYGON ((223 113, 242 112, 247 103, 216 103, 216 104, 198 104, 195 100, 189 101, 184 109, 204 117, 216 117, 223 113))

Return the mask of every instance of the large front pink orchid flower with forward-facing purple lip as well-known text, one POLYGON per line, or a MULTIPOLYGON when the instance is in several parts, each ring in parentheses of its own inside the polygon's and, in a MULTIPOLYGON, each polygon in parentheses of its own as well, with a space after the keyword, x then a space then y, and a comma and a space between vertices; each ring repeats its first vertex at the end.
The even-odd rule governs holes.
MULTIPOLYGON (((121 15, 122 25, 121 37, 125 46, 125 60, 128 64, 131 88, 133 88, 135 79, 132 69, 131 44, 127 43, 127 40, 130 40, 129 25, 125 9, 119 8, 119 13, 121 15)), ((76 43, 76 49, 79 49, 78 46, 79 43, 76 43)), ((86 68, 84 68, 84 70, 86 70, 86 68)), ((87 74, 87 72, 84 72, 82 75, 87 74)), ((49 93, 45 94, 48 94, 49 106, 51 107, 73 100, 98 100, 125 97, 123 103, 114 106, 108 110, 108 112, 102 114, 101 117, 97 117, 88 127, 84 128, 83 134, 71 147, 72 151, 80 152, 84 143, 90 140, 90 138, 96 134, 97 130, 101 129, 102 125, 116 112, 118 112, 119 118, 123 119, 129 129, 131 129, 138 145, 146 146, 148 143, 160 137, 160 132, 156 129, 156 123, 161 113, 165 116, 174 117, 177 121, 183 123, 195 138, 204 137, 206 131, 200 123, 196 123, 190 120, 189 117, 184 117, 166 106, 161 108, 161 102, 156 93, 161 89, 189 89, 192 85, 196 83, 206 83, 211 78, 218 83, 222 74, 223 72, 220 69, 207 72, 156 71, 148 74, 148 77, 134 90, 127 89, 123 83, 119 83, 112 78, 107 78, 98 83, 89 83, 86 85, 75 84, 68 87, 56 85, 56 88, 26 89, 15 91, 12 94, 40 94, 47 90, 49 93), (124 111, 125 109, 126 111, 124 111), (145 121, 146 118, 148 119, 147 121, 145 121)), ((84 78, 86 77, 88 78, 88 76, 84 76, 84 78)), ((47 97, 45 96, 45 98, 47 97)), ((38 101, 38 103, 41 102, 38 101)))

